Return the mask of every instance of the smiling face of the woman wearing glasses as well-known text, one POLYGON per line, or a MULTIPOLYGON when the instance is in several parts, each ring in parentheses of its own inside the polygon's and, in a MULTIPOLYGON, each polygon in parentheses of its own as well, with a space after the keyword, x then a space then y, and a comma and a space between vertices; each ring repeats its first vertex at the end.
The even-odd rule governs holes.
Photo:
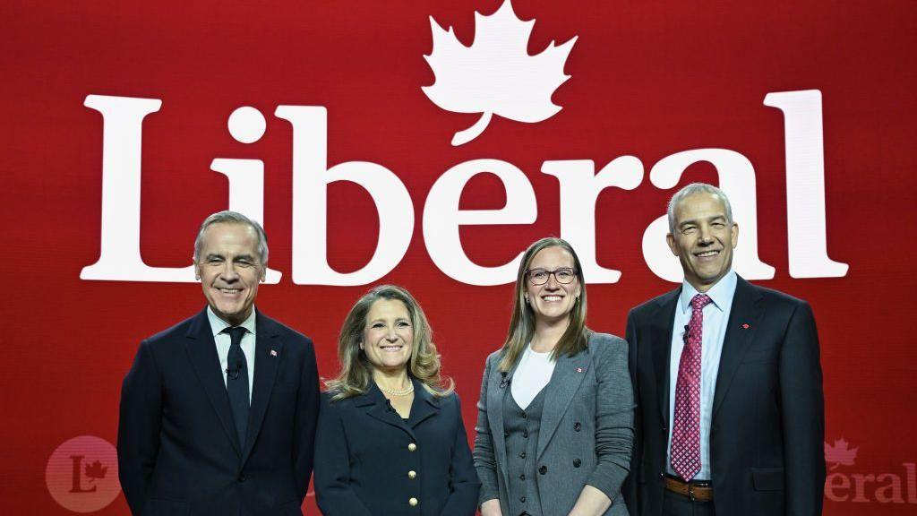
POLYGON ((525 295, 528 304, 535 314, 536 324, 555 322, 569 318, 570 311, 576 305, 580 296, 580 280, 576 274, 576 264, 573 256, 562 247, 547 247, 537 252, 528 265, 528 274, 525 275, 525 295), (560 283, 558 274, 563 275, 569 269, 573 277, 569 283, 560 283), (533 271, 554 271, 548 275, 547 282, 543 285, 532 285, 533 271))

